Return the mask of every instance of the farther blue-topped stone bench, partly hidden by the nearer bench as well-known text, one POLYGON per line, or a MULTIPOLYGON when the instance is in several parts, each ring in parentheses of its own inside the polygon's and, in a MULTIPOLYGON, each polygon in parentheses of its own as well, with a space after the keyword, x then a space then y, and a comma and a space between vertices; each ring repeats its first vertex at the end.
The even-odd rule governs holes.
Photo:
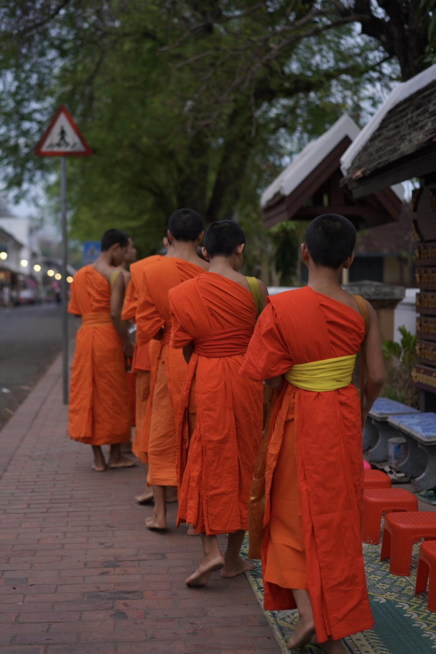
POLYGON ((388 418, 406 413, 416 414, 419 411, 388 398, 375 400, 363 430, 363 451, 369 449, 369 461, 383 461, 388 458, 388 440, 392 436, 398 436, 397 430, 388 424, 388 418))

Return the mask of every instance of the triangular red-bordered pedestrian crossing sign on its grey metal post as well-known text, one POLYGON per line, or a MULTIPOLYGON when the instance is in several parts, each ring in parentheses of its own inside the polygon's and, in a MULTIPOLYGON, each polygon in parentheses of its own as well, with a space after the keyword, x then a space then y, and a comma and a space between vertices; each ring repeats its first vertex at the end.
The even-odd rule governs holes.
POLYGON ((35 154, 60 157, 61 160, 61 228, 62 228, 62 381, 63 404, 68 404, 68 301, 67 301, 67 161, 65 157, 87 157, 92 150, 80 133, 66 107, 61 105, 39 142, 35 154))

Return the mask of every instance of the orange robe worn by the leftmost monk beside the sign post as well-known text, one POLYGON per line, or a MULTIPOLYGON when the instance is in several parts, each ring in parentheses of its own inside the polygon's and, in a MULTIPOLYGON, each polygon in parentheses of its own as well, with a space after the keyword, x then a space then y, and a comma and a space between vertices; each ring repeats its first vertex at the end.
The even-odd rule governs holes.
POLYGON ((71 370, 68 433, 90 445, 130 440, 122 343, 110 320, 110 285, 92 266, 74 276, 68 311, 82 317, 71 370))

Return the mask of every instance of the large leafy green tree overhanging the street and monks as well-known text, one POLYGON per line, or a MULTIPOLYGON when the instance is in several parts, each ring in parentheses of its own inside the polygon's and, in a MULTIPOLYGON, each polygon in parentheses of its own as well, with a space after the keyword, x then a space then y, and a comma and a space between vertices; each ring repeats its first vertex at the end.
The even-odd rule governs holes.
POLYGON ((359 121, 361 105, 376 101, 369 85, 395 78, 386 62, 397 41, 382 47, 392 26, 371 7, 11 1, 0 8, 5 181, 20 194, 52 170, 33 147, 64 102, 95 152, 69 163, 73 235, 95 238, 116 224, 146 254, 169 213, 189 205, 207 220, 239 219, 256 250, 248 266, 260 266, 271 254, 256 215, 260 188, 344 110, 359 121))

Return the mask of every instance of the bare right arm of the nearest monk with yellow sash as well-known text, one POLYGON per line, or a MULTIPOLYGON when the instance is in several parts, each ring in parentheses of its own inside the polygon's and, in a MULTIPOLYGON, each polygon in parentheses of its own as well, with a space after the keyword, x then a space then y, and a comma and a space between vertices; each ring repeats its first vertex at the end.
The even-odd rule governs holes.
POLYGON ((386 383, 386 370, 383 363, 382 341, 378 329, 377 315, 371 304, 367 302, 369 311, 369 330, 365 341, 365 366, 367 379, 365 384, 365 398, 363 400, 362 422, 365 424, 367 415, 380 390, 386 383))

